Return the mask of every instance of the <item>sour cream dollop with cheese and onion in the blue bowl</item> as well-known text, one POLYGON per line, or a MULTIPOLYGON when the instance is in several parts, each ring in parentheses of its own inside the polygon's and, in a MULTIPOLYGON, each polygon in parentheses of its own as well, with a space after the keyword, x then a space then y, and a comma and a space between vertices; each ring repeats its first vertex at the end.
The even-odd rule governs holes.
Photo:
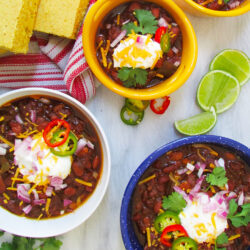
POLYGON ((181 225, 186 229, 188 235, 199 243, 214 240, 228 227, 227 219, 218 216, 218 209, 226 210, 225 203, 218 204, 215 197, 205 204, 206 194, 199 193, 199 199, 194 199, 180 213, 181 225), (203 197, 204 196, 204 197, 203 197))

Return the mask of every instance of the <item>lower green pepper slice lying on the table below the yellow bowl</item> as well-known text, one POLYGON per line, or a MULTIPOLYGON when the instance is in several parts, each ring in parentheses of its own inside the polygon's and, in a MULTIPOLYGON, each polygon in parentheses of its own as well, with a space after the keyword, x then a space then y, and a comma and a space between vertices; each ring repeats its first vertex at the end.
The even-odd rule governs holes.
POLYGON ((130 110, 127 106, 123 106, 120 113, 122 121, 127 125, 138 125, 143 117, 144 117, 144 111, 141 112, 134 112, 130 110))

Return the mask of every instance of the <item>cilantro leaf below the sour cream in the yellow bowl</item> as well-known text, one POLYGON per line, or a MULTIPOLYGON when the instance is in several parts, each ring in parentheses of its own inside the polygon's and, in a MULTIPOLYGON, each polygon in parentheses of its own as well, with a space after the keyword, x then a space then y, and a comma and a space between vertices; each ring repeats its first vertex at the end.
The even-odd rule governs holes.
POLYGON ((148 72, 145 69, 122 67, 118 70, 118 77, 125 87, 144 85, 147 82, 147 76, 148 72))

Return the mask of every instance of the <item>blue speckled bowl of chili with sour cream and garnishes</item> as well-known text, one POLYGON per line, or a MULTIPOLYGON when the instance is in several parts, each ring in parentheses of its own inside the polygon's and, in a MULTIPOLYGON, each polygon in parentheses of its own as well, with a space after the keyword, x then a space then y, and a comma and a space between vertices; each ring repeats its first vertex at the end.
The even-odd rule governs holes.
POLYGON ((249 182, 250 149, 232 139, 191 136, 158 148, 136 169, 122 199, 125 248, 213 249, 216 245, 247 249, 249 182), (217 176, 222 185, 213 182, 217 170, 224 174, 224 178, 217 176), (201 201, 204 214, 198 206, 201 201), (217 210, 219 218, 213 211, 222 206, 217 210), (212 227, 206 224, 208 214, 215 218, 212 227), (216 238, 213 233, 220 235, 216 238))

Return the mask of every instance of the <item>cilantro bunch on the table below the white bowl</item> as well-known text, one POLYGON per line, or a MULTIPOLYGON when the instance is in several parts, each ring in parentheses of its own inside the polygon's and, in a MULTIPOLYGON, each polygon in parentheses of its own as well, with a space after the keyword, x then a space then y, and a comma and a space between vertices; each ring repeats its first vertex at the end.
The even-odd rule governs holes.
POLYGON ((12 242, 3 242, 0 250, 59 250, 62 245, 56 238, 33 239, 14 236, 12 242), (40 241, 40 244, 35 243, 40 241))

